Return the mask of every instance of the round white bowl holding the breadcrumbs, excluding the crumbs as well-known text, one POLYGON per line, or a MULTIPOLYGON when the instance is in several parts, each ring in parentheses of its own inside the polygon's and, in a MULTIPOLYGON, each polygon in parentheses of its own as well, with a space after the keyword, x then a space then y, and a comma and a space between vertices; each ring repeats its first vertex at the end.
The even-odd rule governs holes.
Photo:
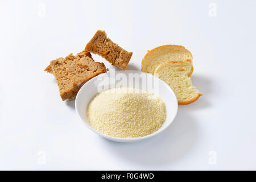
POLYGON ((102 137, 113 140, 115 142, 135 142, 138 140, 153 137, 161 133, 168 126, 170 126, 177 114, 177 99, 170 86, 168 86, 158 77, 152 76, 148 73, 131 70, 115 71, 114 69, 112 69, 107 73, 103 73, 99 76, 92 78, 91 80, 86 82, 77 93, 75 106, 76 113, 79 115, 82 123, 84 123, 85 126, 88 127, 88 129, 94 131, 102 137), (122 85, 126 83, 127 85, 122 85), (137 89, 147 90, 150 93, 154 93, 156 96, 164 101, 164 103, 166 104, 167 118, 166 121, 163 123, 163 126, 160 127, 158 131, 139 138, 117 138, 102 134, 96 131, 92 127, 92 125, 90 125, 86 115, 87 106, 90 100, 92 100, 92 98, 96 96, 96 94, 102 92, 103 90, 108 90, 114 87, 118 88, 120 87, 120 85, 122 85, 123 87, 128 86, 137 89))

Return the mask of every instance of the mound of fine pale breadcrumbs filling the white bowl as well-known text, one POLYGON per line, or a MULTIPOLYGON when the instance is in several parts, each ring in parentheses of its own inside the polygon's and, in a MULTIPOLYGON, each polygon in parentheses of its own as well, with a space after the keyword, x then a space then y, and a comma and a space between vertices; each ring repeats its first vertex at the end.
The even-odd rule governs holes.
POLYGON ((113 88, 90 101, 87 116, 97 131, 119 138, 136 138, 159 130, 166 105, 157 96, 134 88, 113 88))

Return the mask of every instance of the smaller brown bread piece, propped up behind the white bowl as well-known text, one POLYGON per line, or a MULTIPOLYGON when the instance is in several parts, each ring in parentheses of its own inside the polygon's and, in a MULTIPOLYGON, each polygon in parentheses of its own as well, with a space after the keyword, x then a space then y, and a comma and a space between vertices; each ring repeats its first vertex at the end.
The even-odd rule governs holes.
POLYGON ((90 42, 86 45, 85 51, 96 53, 104 57, 113 65, 125 70, 133 52, 127 52, 107 38, 105 31, 98 30, 90 42))

